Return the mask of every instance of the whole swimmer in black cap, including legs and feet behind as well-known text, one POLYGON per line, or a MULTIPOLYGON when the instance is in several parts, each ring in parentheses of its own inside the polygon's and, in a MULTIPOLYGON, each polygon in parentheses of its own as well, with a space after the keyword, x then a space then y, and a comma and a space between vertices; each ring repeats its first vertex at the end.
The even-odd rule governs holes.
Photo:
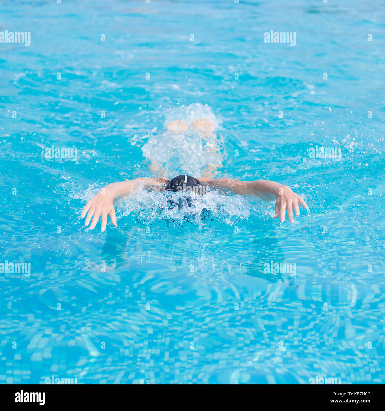
MULTIPOLYGON (((191 126, 201 133, 203 139, 209 136, 216 137, 214 133, 215 127, 213 123, 207 118, 199 118, 195 120, 191 126)), ((189 130, 189 124, 184 120, 175 120, 166 125, 167 130, 172 134, 178 135, 189 130)), ((212 153, 220 153, 219 146, 214 142, 209 143, 208 149, 212 153)), ((175 147, 177 150, 177 147, 175 147)), ((194 154, 194 148, 190 149, 191 155, 194 154)), ((220 162, 220 161, 219 161, 220 162)), ((194 178, 190 175, 182 174, 174 177, 172 180, 161 177, 141 177, 133 180, 126 180, 121 182, 113 182, 101 189, 96 196, 86 203, 82 211, 82 218, 87 214, 84 225, 89 226, 92 230, 95 228, 99 217, 101 217, 101 231, 105 231, 107 225, 107 215, 110 216, 111 222, 117 226, 115 215, 114 200, 129 196, 138 189, 152 189, 156 191, 172 191, 181 192, 184 195, 194 193, 204 195, 211 189, 225 190, 233 194, 240 194, 242 196, 254 195, 265 201, 273 200, 275 198, 275 215, 274 218, 280 217, 280 221, 285 221, 285 215, 289 217, 290 222, 294 222, 294 214, 299 215, 299 205, 308 209, 307 204, 289 187, 282 185, 275 181, 269 180, 254 180, 241 181, 233 178, 210 178, 217 173, 217 168, 221 164, 210 164, 208 170, 202 177, 194 178)), ((161 173, 161 166, 152 161, 150 164, 150 171, 153 173, 161 173)))

